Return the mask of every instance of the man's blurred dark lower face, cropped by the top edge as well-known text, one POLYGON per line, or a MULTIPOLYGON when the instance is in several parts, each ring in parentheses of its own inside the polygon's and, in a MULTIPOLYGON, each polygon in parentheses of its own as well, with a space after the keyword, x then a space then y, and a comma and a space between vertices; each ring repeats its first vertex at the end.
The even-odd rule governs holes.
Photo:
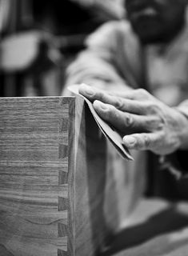
POLYGON ((125 0, 127 17, 142 42, 168 42, 185 22, 187 0, 125 0))

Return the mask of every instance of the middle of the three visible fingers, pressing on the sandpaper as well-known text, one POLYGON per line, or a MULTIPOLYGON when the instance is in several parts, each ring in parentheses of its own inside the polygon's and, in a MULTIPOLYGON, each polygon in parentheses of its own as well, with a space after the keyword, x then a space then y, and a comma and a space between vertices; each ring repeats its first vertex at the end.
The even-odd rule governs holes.
POLYGON ((158 118, 155 117, 130 114, 99 101, 94 101, 94 109, 102 119, 109 122, 122 134, 126 134, 129 131, 133 133, 158 129, 158 118))

